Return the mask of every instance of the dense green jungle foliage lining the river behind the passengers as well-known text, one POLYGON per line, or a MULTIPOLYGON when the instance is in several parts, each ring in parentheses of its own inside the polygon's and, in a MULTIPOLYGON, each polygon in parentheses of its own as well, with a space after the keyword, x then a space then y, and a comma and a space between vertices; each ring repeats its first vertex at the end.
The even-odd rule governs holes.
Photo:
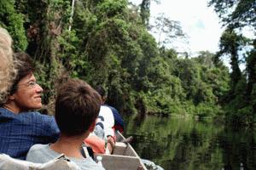
MULTIPOLYGON (((14 38, 15 51, 26 51, 37 64, 50 112, 60 78, 69 76, 92 87, 102 85, 108 90, 108 104, 121 112, 219 120, 227 116, 252 123, 256 42, 243 37, 239 28, 252 26, 255 32, 254 0, 211 0, 209 5, 227 29, 218 54, 202 51, 195 58, 166 48, 148 33, 150 2, 142 0, 136 6, 128 0, 1 1, 0 26, 14 38), (240 55, 245 48, 250 50, 240 55), (230 71, 221 56, 230 57, 230 71), (245 71, 239 68, 241 60, 245 71)), ((160 24, 174 28, 166 30, 169 38, 183 37, 177 23, 160 24)))

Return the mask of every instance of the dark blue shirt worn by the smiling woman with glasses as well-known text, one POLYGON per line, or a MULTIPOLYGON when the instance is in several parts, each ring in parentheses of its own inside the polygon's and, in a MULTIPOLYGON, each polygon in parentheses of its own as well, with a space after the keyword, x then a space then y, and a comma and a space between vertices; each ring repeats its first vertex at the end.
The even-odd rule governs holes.
POLYGON ((33 144, 54 143, 60 130, 54 116, 13 112, 0 107, 0 153, 25 160, 33 144))

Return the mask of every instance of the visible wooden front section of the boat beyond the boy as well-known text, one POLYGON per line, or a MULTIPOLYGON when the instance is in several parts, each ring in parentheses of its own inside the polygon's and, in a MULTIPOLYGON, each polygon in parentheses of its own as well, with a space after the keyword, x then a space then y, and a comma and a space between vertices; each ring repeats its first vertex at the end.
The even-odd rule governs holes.
POLYGON ((131 144, 120 142, 123 139, 125 137, 117 132, 117 142, 113 154, 96 154, 96 156, 102 156, 102 166, 106 170, 147 170, 147 167, 145 167, 131 144))

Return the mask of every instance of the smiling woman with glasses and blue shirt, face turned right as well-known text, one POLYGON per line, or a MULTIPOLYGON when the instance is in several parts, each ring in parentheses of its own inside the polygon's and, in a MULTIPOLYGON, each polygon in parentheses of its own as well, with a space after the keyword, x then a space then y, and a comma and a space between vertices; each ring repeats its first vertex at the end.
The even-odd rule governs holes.
POLYGON ((22 53, 14 58, 17 74, 7 101, 0 105, 0 153, 24 160, 33 144, 55 142, 59 129, 53 116, 32 111, 42 107, 43 92, 33 75, 32 59, 22 53))

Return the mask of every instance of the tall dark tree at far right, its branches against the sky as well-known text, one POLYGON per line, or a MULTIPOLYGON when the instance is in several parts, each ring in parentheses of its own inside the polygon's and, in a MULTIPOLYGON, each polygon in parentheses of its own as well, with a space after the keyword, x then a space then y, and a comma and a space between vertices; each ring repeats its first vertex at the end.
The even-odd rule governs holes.
MULTIPOLYGON (((255 0, 209 0, 208 3, 213 6, 218 16, 227 26, 220 40, 220 52, 218 54, 230 54, 231 59, 231 89, 233 94, 230 96, 230 118, 235 122, 249 123, 255 118, 255 46, 247 48, 247 38, 242 36, 242 29, 249 27, 256 34, 256 1, 255 0), (236 30, 236 31, 235 31, 236 30), (241 32, 240 35, 236 32, 241 32), (247 51, 241 55, 247 62, 247 77, 241 77, 241 71, 238 67, 239 51, 247 51)), ((252 38, 252 37, 250 37, 252 38)), ((253 37, 255 42, 255 37, 253 37)), ((252 39, 251 39, 252 41, 252 39)), ((216 59, 218 61, 218 59, 216 59)))

